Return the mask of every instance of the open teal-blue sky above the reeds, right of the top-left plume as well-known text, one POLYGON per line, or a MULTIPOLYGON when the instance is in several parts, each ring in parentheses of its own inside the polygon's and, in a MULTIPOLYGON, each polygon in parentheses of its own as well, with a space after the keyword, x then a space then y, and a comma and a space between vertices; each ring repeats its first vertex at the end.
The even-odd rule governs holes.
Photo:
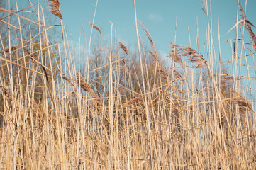
MULTIPOLYGON (((96 0, 60 1, 61 11, 68 35, 72 35, 74 42, 78 41, 79 33, 82 33, 82 26, 86 31, 87 38, 91 28, 89 19, 94 16, 96 0)), ((240 1, 245 6, 245 1, 240 1)), ((208 1, 210 4, 210 1, 208 1)), ((225 55, 223 60, 228 60, 230 53, 230 42, 223 42, 235 38, 235 29, 226 34, 235 25, 237 13, 237 1, 215 0, 212 1, 213 19, 213 40, 218 50, 218 18, 220 21, 221 53, 225 55), (228 50, 227 50, 228 49, 228 50)), ((207 20, 204 11, 201 9, 201 0, 180 0, 180 1, 136 1, 137 16, 149 30, 158 52, 168 55, 169 43, 174 42, 175 24, 177 19, 177 45, 189 46, 189 33, 191 47, 196 47, 196 21, 199 27, 199 47, 203 50, 206 43, 207 20)), ((256 1, 247 1, 247 17, 256 24, 255 18, 256 1)), ((135 20, 133 1, 99 0, 94 23, 98 26, 106 40, 109 40, 111 25, 116 29, 117 38, 125 42, 127 46, 136 45, 135 20)), ((148 41, 140 29, 143 40, 148 41)), ((203 53, 203 51, 201 51, 203 53)), ((218 52, 218 51, 216 51, 218 52)))

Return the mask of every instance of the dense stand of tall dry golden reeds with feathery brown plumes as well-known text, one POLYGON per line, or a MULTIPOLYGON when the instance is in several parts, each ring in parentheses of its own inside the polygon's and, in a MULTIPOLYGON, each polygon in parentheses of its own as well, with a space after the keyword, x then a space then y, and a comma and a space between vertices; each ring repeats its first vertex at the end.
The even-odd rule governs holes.
POLYGON ((240 60, 255 56, 256 38, 242 6, 237 26, 251 46, 240 35, 230 41, 252 54, 235 51, 230 73, 215 60, 210 27, 207 59, 171 43, 168 68, 143 23, 150 50, 137 35, 132 51, 106 42, 93 21, 100 42, 89 40, 82 68, 60 2, 48 3, 61 22, 60 44, 40 4, 1 7, 0 169, 256 169, 255 101, 237 74, 240 60))

